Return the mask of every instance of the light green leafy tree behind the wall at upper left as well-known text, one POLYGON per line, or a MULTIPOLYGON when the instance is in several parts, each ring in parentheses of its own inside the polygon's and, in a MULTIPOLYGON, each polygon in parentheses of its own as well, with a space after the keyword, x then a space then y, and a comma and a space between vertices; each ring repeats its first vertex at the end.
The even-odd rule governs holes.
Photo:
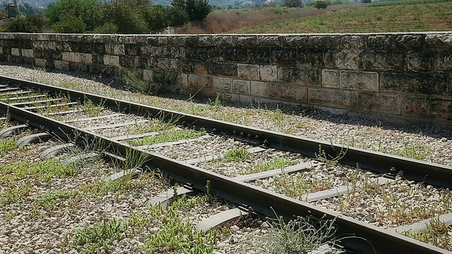
POLYGON ((101 0, 57 0, 47 6, 46 16, 51 25, 58 23, 57 27, 66 27, 64 30, 73 26, 76 28, 73 32, 81 32, 81 23, 85 30, 93 30, 100 25, 101 6, 101 0), (65 24, 70 22, 68 17, 75 18, 76 24, 65 24))

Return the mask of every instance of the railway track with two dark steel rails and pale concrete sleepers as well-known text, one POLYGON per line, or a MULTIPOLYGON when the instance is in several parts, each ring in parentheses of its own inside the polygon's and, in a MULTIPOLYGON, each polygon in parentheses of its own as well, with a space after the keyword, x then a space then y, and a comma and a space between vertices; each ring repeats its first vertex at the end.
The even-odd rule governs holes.
MULTIPOLYGON (((237 126, 232 123, 214 121, 203 117, 181 114, 176 111, 167 111, 143 104, 126 102, 118 99, 99 97, 74 90, 66 90, 60 87, 31 83, 25 80, 0 77, 0 114, 8 115, 11 119, 25 123, 0 132, 2 135, 13 133, 18 128, 30 126, 40 128, 44 134, 35 135, 32 140, 43 140, 46 137, 59 137, 61 140, 71 141, 80 145, 87 143, 97 144, 97 148, 117 157, 126 157, 128 152, 143 153, 150 160, 142 165, 160 171, 169 179, 190 186, 198 191, 208 191, 218 197, 234 204, 240 205, 242 210, 252 210, 258 214, 275 217, 275 214, 285 219, 295 216, 314 216, 316 218, 334 219, 335 236, 340 238, 340 245, 361 253, 447 253, 446 250, 431 246, 427 243, 416 241, 396 232, 413 228, 422 228, 422 223, 405 223, 400 228, 378 227, 370 224, 369 219, 359 217, 352 218, 344 215, 344 212, 327 210, 328 205, 322 200, 333 200, 341 195, 350 194, 350 190, 362 193, 365 183, 357 184, 357 181, 338 181, 334 186, 326 186, 319 190, 311 190, 290 198, 284 191, 275 190, 268 186, 268 179, 281 179, 280 175, 293 173, 308 175, 314 178, 328 171, 333 165, 340 163, 347 165, 352 175, 360 173, 369 176, 374 186, 386 186, 404 179, 414 183, 422 183, 429 188, 452 188, 452 168, 440 164, 417 161, 403 157, 391 156, 379 152, 370 152, 352 147, 342 147, 317 140, 299 138, 293 135, 275 133, 247 126, 237 126), (65 120, 66 114, 77 114, 82 104, 103 105, 116 113, 108 116, 81 117, 76 120, 65 120), (57 110, 52 110, 57 109, 57 110), (125 115, 136 115, 136 119, 125 119, 125 115), (95 121, 105 117, 111 117, 112 123, 97 126, 95 121), (59 120, 55 120, 55 118, 59 120), (171 131, 187 131, 195 133, 185 140, 174 140, 172 144, 156 145, 154 137, 162 134, 160 131, 146 131, 145 133, 133 133, 122 135, 102 135, 102 130, 119 126, 148 125, 157 121, 168 124, 171 131), (88 125, 83 124, 89 123, 88 125), (148 143, 149 140, 153 140, 148 143), (196 151, 187 150, 190 143, 204 142, 206 147, 211 147, 222 140, 227 140, 225 147, 213 150, 210 154, 205 152, 197 155, 196 151), (235 141, 230 141, 235 140, 235 141), (235 142, 235 143, 234 143, 235 142), (165 150, 171 145, 181 145, 181 151, 165 150), (185 145, 185 146, 184 146, 185 145), (277 169, 255 172, 239 170, 228 174, 225 170, 228 164, 222 161, 227 156, 227 151, 246 151, 256 157, 290 157, 291 164, 280 166, 277 169), (185 151, 185 152, 184 152, 185 151), (284 151, 284 152, 281 152, 284 151), (287 153, 287 154, 285 154, 287 153), (292 156, 292 157, 291 157, 292 156), (359 170, 356 169, 357 165, 359 170), (283 168, 283 171, 281 170, 283 168), (319 169, 319 171, 316 171, 319 169), (356 173, 353 173, 353 172, 356 173), (361 184, 361 185, 360 185, 361 184), (208 187, 207 187, 208 186, 208 187), (432 187, 435 186, 435 187, 432 187), (279 193, 275 193, 278 191, 279 193), (323 204, 323 205, 322 205, 323 204), (342 213, 342 214, 341 214, 342 213), (413 224, 413 225, 411 225, 413 224)), ((33 142, 28 138, 28 141, 33 142)), ((349 172, 349 173, 350 173, 349 172)), ((343 177, 343 172, 334 172, 338 177, 343 177)), ((304 175, 299 177, 304 177, 304 175)), ((326 178, 331 177, 329 175, 326 178)), ((321 179, 317 179, 321 181, 321 179)), ((357 180, 357 179, 355 179, 357 180)), ((179 190, 179 192, 184 192, 179 190)), ((156 197, 151 202, 165 200, 165 195, 156 197), (163 197, 163 198, 162 198, 163 197)), ((242 212, 230 212, 220 214, 206 222, 199 224, 199 228, 206 229, 215 226, 214 220, 222 222, 233 219, 242 212)), ((442 217, 448 217, 448 210, 442 217)), ((439 215, 439 214, 438 214, 439 215)))

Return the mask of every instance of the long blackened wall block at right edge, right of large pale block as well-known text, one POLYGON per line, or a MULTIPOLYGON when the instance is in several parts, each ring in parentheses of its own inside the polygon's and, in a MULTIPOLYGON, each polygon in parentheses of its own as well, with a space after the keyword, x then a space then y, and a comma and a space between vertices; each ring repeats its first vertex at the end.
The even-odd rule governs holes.
POLYGON ((451 96, 450 78, 440 73, 381 73, 381 92, 451 96))

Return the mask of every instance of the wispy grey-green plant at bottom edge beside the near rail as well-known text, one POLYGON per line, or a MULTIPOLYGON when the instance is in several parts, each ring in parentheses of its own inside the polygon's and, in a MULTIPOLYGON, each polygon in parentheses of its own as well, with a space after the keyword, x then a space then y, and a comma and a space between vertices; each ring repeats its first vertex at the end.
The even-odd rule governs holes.
POLYGON ((309 253, 325 243, 333 243, 335 219, 297 217, 285 222, 278 217, 272 224, 270 234, 263 238, 264 253, 309 253))

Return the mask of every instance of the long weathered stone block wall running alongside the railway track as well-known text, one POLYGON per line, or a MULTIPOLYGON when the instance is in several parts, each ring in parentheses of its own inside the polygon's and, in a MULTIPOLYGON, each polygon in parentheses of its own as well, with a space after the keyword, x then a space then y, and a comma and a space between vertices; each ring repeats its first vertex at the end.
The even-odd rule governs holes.
POLYGON ((452 123, 452 33, 0 34, 0 61, 114 76, 150 90, 294 102, 452 123))

